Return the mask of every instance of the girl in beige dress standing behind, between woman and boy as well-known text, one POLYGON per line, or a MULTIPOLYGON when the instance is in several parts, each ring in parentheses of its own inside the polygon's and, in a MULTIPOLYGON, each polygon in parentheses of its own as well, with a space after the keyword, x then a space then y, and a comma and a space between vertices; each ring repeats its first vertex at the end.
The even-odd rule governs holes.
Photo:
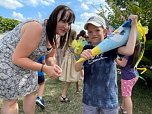
POLYGON ((61 102, 70 102, 69 98, 67 97, 68 88, 70 87, 71 82, 76 83, 76 92, 79 92, 79 79, 80 79, 80 73, 75 71, 74 64, 76 62, 74 49, 71 48, 69 44, 72 43, 72 41, 76 38, 76 31, 71 30, 70 38, 67 41, 66 46, 64 49, 66 51, 64 52, 63 61, 61 64, 61 68, 63 69, 63 72, 61 74, 61 77, 59 77, 59 80, 65 81, 64 88, 62 91, 60 98, 61 102))

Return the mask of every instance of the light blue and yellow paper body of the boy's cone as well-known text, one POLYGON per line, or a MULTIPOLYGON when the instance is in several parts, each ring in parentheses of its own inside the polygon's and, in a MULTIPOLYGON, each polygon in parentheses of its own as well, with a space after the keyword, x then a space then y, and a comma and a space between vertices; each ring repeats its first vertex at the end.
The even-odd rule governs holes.
MULTIPOLYGON (((93 56, 99 55, 101 53, 107 52, 109 50, 121 47, 125 45, 128 41, 130 34, 130 23, 125 22, 122 26, 116 29, 112 34, 110 34, 106 39, 95 46, 91 52, 93 56)), ((77 62, 85 61, 85 58, 80 58, 77 62)))

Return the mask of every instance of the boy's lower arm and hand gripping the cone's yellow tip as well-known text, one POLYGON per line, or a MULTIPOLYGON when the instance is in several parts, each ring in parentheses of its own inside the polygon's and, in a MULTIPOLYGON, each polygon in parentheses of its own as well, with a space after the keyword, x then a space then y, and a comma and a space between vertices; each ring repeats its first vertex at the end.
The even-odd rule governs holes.
MULTIPOLYGON (((91 49, 86 49, 86 50, 82 51, 82 53, 80 55, 80 58, 86 58, 87 60, 91 59, 92 57, 93 56, 92 56, 92 53, 91 53, 91 49)), ((82 70, 83 63, 84 63, 84 61, 75 63, 75 70, 77 72, 82 70)))

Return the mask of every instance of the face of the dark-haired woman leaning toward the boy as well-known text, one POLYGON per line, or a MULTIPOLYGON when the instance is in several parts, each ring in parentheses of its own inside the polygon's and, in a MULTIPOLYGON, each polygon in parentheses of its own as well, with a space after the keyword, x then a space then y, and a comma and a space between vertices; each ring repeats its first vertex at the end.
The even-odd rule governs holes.
POLYGON ((64 36, 70 29, 71 23, 67 22, 67 19, 69 17, 69 13, 66 12, 64 18, 60 20, 61 15, 63 11, 60 11, 58 14, 58 21, 57 21, 57 26, 56 26, 56 34, 60 36, 64 36))

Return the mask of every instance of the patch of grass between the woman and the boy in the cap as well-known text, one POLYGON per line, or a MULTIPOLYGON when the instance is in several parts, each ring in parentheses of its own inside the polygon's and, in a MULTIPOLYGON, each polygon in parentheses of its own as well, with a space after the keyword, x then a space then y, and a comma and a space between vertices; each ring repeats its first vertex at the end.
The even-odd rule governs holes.
MULTIPOLYGON (((80 83, 82 85, 82 82, 80 83)), ((46 81, 46 90, 44 99, 46 101, 46 109, 44 111, 37 110, 36 114, 81 114, 82 112, 82 93, 76 93, 75 83, 72 83, 68 97, 70 103, 62 103, 59 100, 64 83, 58 80, 46 81)))

